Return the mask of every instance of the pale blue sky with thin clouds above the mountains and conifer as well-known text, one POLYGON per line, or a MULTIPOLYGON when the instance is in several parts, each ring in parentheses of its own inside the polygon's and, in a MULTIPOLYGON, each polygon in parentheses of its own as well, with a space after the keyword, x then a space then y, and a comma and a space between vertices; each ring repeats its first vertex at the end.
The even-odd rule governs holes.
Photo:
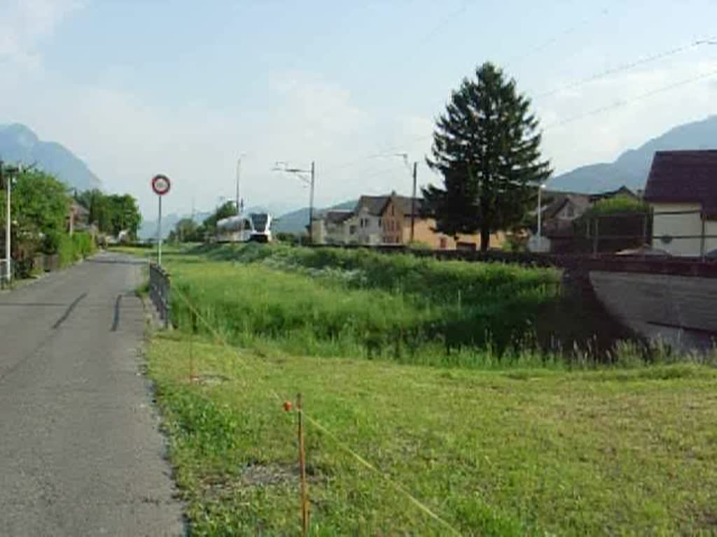
MULTIPOLYGON (((491 60, 534 98, 556 171, 613 160, 715 113, 717 2, 0 0, 0 122, 23 122, 87 161, 108 190, 137 195, 153 173, 169 211, 233 193, 304 205, 275 160, 317 165, 318 205, 407 192, 450 90, 491 60), (589 84, 606 69, 680 49, 589 84), (547 97, 541 93, 560 89, 547 97)), ((419 183, 437 178, 421 165, 419 183)))

